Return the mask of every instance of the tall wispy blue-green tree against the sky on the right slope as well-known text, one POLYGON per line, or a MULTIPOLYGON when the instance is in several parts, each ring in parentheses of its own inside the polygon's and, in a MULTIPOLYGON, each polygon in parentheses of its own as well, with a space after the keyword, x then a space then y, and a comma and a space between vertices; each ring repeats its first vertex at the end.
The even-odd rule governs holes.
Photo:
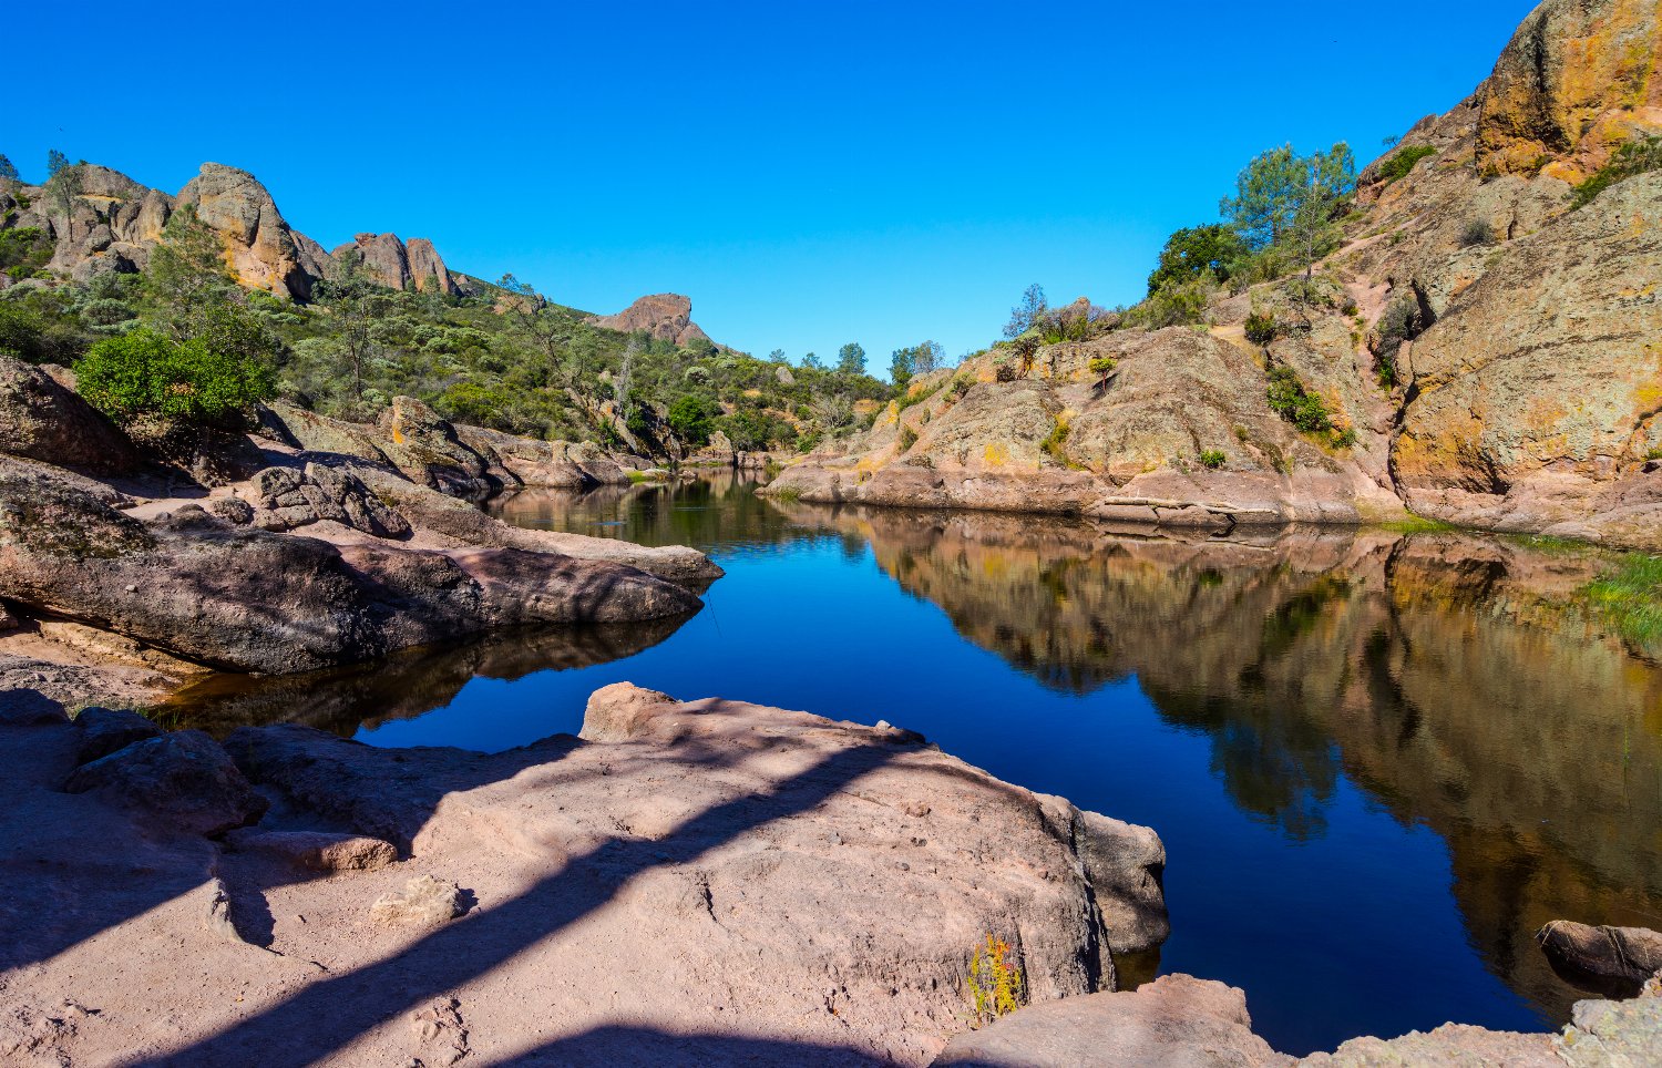
POLYGON ((1355 188, 1356 159, 1343 141, 1311 156, 1283 145, 1246 164, 1235 179, 1235 196, 1223 198, 1218 211, 1248 249, 1286 251, 1308 274, 1355 188))

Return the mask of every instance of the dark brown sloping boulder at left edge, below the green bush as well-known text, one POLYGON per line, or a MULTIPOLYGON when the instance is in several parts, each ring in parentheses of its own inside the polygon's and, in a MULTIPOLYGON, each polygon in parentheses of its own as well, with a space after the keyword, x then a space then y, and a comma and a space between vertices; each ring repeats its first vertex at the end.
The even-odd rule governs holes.
POLYGON ((108 473, 138 467, 138 450, 101 412, 45 370, 3 354, 0 452, 108 473))

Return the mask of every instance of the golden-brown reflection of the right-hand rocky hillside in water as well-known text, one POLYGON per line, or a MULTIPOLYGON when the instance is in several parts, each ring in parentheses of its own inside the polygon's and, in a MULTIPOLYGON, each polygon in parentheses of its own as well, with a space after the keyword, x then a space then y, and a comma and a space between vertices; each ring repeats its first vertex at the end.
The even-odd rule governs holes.
POLYGON ((1562 1018, 1532 932, 1662 920, 1662 668, 1579 606, 1589 551, 1469 535, 1117 536, 1087 522, 796 507, 1045 686, 1135 674, 1233 801, 1326 830, 1340 772, 1449 847, 1489 967, 1562 1018))

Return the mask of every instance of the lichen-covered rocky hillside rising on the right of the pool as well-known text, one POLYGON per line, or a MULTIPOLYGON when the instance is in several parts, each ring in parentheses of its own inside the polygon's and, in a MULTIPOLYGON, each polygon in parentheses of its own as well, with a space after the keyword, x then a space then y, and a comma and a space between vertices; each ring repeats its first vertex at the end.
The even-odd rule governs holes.
POLYGON ((1361 169, 1308 277, 1052 311, 774 492, 1662 546, 1662 173, 1622 169, 1662 135, 1659 35, 1654 3, 1547 0, 1361 169))

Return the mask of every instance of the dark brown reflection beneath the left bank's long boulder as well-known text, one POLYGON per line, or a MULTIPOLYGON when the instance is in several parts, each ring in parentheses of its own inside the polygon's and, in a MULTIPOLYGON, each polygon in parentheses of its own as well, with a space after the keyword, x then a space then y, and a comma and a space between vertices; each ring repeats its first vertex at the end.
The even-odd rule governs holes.
POLYGON ((474 678, 590 668, 648 649, 686 618, 515 630, 334 671, 254 678, 214 674, 176 693, 160 716, 224 736, 241 726, 299 723, 351 736, 449 704, 474 678))

